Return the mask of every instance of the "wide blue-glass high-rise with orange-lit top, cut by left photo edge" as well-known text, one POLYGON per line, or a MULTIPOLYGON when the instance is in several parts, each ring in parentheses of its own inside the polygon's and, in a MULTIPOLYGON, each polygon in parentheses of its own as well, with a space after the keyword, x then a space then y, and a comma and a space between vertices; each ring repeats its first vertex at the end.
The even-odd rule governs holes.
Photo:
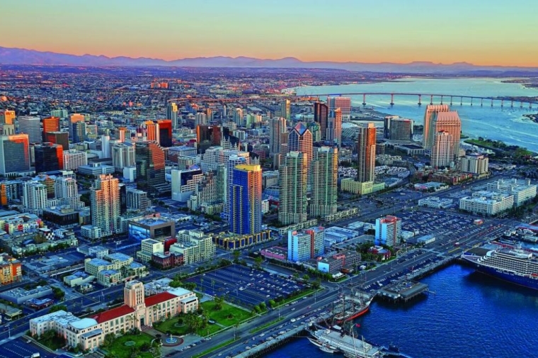
POLYGON ((10 176, 29 172, 28 134, 0 135, 0 174, 10 176))

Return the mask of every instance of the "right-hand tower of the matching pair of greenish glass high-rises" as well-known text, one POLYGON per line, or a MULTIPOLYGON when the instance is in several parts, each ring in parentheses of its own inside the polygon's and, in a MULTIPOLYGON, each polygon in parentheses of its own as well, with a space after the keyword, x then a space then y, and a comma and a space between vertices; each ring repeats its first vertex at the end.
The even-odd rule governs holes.
POLYGON ((312 162, 311 218, 336 213, 338 201, 338 148, 321 147, 314 152, 312 162))

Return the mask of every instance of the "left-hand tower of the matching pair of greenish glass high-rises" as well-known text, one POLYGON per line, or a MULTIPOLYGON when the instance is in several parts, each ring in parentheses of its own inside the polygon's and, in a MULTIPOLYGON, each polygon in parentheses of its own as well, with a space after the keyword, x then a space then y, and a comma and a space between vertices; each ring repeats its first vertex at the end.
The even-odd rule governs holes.
POLYGON ((302 152, 288 152, 278 169, 278 220, 284 225, 307 221, 309 164, 302 152))

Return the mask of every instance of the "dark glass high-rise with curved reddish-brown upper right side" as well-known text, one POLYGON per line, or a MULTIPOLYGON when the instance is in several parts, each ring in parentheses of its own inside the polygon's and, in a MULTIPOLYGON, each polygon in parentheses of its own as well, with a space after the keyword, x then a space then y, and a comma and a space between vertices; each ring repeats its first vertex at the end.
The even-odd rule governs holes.
POLYGON ((137 189, 145 190, 149 194, 159 194, 166 186, 164 152, 161 147, 154 142, 137 142, 135 162, 137 189))

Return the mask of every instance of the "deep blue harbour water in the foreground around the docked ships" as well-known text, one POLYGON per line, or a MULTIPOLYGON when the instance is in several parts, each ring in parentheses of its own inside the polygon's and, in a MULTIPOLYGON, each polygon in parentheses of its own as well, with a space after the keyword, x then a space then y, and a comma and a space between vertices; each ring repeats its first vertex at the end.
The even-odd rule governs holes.
MULTIPOLYGON (((375 302, 359 334, 413 358, 538 357, 538 293, 454 264, 421 280, 435 291, 402 307, 375 302)), ((269 358, 333 357, 300 338, 269 358)))

